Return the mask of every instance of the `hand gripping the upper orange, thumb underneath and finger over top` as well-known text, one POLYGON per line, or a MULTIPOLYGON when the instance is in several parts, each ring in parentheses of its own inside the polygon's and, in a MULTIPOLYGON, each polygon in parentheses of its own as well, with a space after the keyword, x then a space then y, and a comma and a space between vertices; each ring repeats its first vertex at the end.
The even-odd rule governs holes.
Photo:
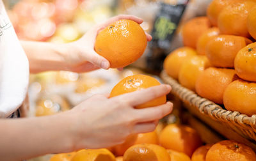
MULTIPOLYGON (((89 72, 98 68, 104 68, 106 70, 109 68, 109 61, 97 54, 94 50, 95 39, 99 31, 121 19, 134 20, 138 24, 143 22, 142 19, 133 15, 118 15, 102 24, 92 27, 92 29, 87 31, 86 34, 76 42, 68 43, 70 52, 67 55, 66 61, 70 65, 72 72, 89 72)), ((148 33, 146 33, 146 35, 147 40, 150 41, 152 36, 148 33)))

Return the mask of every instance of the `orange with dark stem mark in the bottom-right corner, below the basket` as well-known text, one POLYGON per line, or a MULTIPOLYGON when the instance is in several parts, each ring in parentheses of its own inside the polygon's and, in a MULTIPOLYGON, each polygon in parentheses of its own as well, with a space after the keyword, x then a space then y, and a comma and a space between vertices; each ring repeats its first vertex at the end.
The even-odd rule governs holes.
POLYGON ((254 151, 236 141, 220 141, 208 151, 205 161, 254 161, 254 151))

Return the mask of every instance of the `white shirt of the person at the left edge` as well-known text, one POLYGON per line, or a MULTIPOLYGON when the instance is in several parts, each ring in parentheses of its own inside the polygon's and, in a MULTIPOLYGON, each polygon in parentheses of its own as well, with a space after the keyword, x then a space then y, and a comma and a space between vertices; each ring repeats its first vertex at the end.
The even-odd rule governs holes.
POLYGON ((28 59, 0 0, 0 118, 20 107, 28 82, 28 59))

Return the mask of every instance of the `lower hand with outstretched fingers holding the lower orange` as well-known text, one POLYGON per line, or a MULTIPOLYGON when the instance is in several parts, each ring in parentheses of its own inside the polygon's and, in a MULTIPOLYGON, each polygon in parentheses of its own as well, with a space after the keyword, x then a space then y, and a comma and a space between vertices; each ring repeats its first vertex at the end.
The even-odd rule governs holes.
POLYGON ((152 132, 157 120, 172 111, 172 103, 146 109, 134 109, 170 92, 168 85, 154 86, 113 98, 95 95, 72 109, 76 123, 74 150, 81 148, 106 148, 121 144, 131 134, 152 132))

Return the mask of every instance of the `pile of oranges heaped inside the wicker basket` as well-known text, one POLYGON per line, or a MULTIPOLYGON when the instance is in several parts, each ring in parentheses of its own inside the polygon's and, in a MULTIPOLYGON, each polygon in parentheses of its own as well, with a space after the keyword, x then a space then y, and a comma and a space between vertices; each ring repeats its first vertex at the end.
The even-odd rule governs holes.
POLYGON ((164 70, 198 95, 223 104, 227 110, 252 116, 256 114, 253 38, 255 0, 213 0, 207 17, 184 24, 184 47, 166 57, 164 70))

